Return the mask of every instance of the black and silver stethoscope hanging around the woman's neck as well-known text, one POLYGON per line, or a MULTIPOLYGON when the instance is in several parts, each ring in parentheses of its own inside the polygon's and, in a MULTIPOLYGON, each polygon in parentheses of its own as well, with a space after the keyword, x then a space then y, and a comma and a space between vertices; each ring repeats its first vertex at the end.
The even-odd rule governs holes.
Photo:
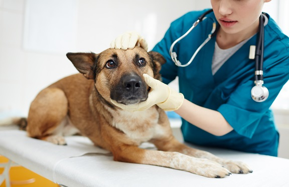
MULTIPOLYGON (((190 65, 192 63, 192 61, 194 60, 195 56, 198 54, 198 52, 202 49, 202 47, 217 33, 217 23, 216 20, 211 18, 213 20, 213 28, 211 30, 211 32, 209 33, 207 39, 197 48, 197 50, 195 51, 195 53, 193 54, 193 56, 191 57, 191 59, 185 63, 182 64, 178 59, 177 59, 177 53, 173 51, 173 48, 175 46, 175 44, 177 42, 179 42, 181 39, 183 39, 184 37, 186 37, 198 24, 199 22, 205 20, 207 17, 206 15, 210 12, 212 12, 213 9, 210 9, 208 11, 206 11, 205 13, 203 13, 198 20, 196 20, 193 23, 193 26, 185 33, 183 34, 181 37, 179 37, 178 39, 176 39, 170 48, 170 55, 172 60, 175 62, 175 64, 177 66, 180 67, 186 67, 188 65, 190 65)), ((266 100, 269 96, 269 91, 268 89, 263 86, 263 49, 264 49, 264 18, 263 18, 263 14, 260 15, 259 18, 259 27, 258 27, 258 40, 257 40, 257 45, 251 45, 250 46, 250 51, 249 51, 249 59, 255 59, 255 75, 254 75, 254 83, 255 86, 252 87, 251 89, 251 97, 253 100, 255 100, 256 102, 262 102, 264 100, 266 100)))

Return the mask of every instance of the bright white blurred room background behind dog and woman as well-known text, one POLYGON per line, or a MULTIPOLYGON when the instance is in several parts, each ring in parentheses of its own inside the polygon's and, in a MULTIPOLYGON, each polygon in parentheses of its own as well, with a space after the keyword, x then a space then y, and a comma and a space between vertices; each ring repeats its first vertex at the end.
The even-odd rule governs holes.
MULTIPOLYGON (((150 50, 174 19, 210 7, 210 0, 0 0, 0 118, 27 116, 41 89, 77 73, 67 52, 99 53, 128 30, 141 33, 150 50)), ((272 0, 263 9, 287 35, 288 8, 289 0, 272 0)), ((176 81, 171 86, 178 89, 176 81)), ((288 83, 272 107, 280 146, 289 147, 288 83)), ((279 153, 289 158, 287 148, 279 153)))

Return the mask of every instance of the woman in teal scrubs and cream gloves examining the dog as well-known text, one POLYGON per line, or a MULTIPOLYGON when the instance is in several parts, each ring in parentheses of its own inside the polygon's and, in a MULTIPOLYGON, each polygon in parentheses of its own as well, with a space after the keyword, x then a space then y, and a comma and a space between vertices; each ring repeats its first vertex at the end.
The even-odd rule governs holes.
MULTIPOLYGON (((250 45, 256 45, 258 40, 263 4, 269 1, 211 0, 213 12, 207 13, 207 18, 173 47, 179 62, 186 64, 208 38, 214 26, 212 20, 216 21, 216 33, 186 67, 175 64, 170 47, 208 9, 191 11, 173 21, 153 48, 167 60, 161 70, 164 83, 144 74, 151 86, 148 100, 125 109, 143 110, 157 104, 182 117, 181 129, 187 142, 277 156, 279 133, 270 105, 289 79, 289 38, 267 13, 262 18, 262 71, 256 74, 256 59, 248 57, 250 45), (259 73, 263 74, 263 86, 269 95, 255 101, 251 89, 259 73), (181 93, 167 85, 177 76, 181 93)), ((135 45, 148 49, 146 40, 137 32, 118 36, 110 47, 127 49, 135 45)))

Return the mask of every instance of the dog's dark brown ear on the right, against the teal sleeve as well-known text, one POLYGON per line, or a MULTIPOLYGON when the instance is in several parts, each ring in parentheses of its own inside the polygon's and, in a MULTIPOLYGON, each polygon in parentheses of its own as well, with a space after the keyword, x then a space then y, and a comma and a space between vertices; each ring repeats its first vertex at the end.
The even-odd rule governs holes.
POLYGON ((159 52, 155 51, 150 51, 149 54, 153 62, 154 78, 161 80, 160 70, 162 65, 166 63, 166 58, 159 52))

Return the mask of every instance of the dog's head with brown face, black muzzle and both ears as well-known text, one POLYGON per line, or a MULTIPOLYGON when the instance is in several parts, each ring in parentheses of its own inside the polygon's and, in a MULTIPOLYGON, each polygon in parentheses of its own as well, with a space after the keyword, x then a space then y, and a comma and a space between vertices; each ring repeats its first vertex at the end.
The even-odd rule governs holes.
POLYGON ((142 74, 161 79, 161 65, 166 62, 158 52, 133 49, 106 49, 99 54, 67 53, 67 57, 87 79, 94 79, 102 97, 122 104, 134 104, 148 98, 149 87, 142 74))

